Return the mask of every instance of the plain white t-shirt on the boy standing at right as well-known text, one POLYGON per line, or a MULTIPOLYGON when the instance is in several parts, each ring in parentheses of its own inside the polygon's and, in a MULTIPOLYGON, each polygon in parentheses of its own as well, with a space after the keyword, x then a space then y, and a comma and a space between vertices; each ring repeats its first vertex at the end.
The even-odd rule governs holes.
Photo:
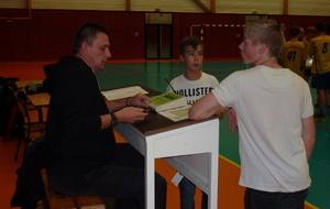
POLYGON ((288 68, 235 72, 212 91, 237 111, 240 185, 293 193, 310 186, 301 119, 314 114, 308 84, 288 68))

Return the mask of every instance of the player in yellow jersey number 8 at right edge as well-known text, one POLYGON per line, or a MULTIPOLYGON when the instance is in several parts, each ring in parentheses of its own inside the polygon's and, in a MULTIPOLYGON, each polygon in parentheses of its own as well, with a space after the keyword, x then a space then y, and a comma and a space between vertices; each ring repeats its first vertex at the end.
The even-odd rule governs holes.
POLYGON ((330 36, 326 35, 326 24, 316 24, 318 37, 310 41, 308 54, 314 55, 311 66, 311 87, 317 89, 319 113, 315 116, 316 122, 327 122, 326 108, 330 92, 330 36))

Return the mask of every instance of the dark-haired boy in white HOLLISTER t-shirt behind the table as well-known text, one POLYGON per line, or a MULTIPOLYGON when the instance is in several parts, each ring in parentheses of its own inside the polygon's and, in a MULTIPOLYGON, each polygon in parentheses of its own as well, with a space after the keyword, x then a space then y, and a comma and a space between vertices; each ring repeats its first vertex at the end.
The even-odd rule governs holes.
MULTIPOLYGON (((185 63, 185 73, 174 78, 167 86, 166 91, 175 92, 187 98, 188 105, 195 103, 199 98, 210 92, 215 86, 219 85, 215 76, 200 70, 204 58, 204 43, 199 37, 187 36, 179 45, 179 58, 185 63)), ((221 119, 223 113, 219 116, 221 119)), ((194 196, 196 186, 183 178, 179 183, 180 208, 195 209, 194 196)), ((208 208, 208 198, 202 193, 201 209, 208 208)))

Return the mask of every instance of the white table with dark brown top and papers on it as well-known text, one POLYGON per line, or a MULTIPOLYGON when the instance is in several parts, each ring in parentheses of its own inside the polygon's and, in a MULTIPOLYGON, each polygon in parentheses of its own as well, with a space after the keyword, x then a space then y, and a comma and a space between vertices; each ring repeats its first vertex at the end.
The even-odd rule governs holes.
POLYGON ((155 158, 161 157, 208 195, 209 208, 218 208, 218 118, 183 122, 166 120, 151 112, 138 124, 120 123, 114 128, 145 156, 146 208, 154 209, 155 158))

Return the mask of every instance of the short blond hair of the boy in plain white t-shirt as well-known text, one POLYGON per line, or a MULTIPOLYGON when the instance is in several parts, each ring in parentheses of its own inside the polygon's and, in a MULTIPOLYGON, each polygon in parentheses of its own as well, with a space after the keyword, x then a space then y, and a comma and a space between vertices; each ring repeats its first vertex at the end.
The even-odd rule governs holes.
POLYGON ((262 19, 248 21, 245 23, 244 33, 255 46, 257 44, 266 44, 270 56, 278 57, 285 44, 285 37, 282 26, 272 19, 262 19))

